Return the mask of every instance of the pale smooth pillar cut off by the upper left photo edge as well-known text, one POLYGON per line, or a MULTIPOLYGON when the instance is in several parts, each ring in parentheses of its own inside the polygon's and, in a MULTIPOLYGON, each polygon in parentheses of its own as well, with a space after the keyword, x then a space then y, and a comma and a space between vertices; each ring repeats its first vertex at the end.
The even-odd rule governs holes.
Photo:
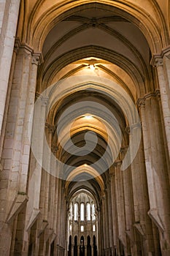
POLYGON ((15 34, 18 23, 19 7, 20 0, 3 0, 0 3, 0 135, 7 97, 9 72, 12 63, 15 34))

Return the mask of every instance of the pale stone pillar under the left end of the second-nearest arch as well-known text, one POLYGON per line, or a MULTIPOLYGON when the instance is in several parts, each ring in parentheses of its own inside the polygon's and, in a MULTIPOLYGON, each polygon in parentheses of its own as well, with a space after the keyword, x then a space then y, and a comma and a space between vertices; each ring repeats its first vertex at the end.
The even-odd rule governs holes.
MULTIPOLYGON (((24 233, 24 240, 28 246, 28 231, 34 224, 40 214, 40 189, 42 184, 42 158, 43 158, 43 146, 45 135, 45 112, 46 112, 47 98, 40 98, 36 109, 34 110, 34 124, 33 133, 31 138, 31 161, 29 171, 29 187, 28 187, 28 204, 26 208, 26 229, 24 233), (34 154, 33 154, 34 152, 34 154)), ((39 236, 45 229, 47 222, 43 223, 41 227, 38 223, 38 229, 36 230, 36 248, 34 255, 39 253, 39 236)))

